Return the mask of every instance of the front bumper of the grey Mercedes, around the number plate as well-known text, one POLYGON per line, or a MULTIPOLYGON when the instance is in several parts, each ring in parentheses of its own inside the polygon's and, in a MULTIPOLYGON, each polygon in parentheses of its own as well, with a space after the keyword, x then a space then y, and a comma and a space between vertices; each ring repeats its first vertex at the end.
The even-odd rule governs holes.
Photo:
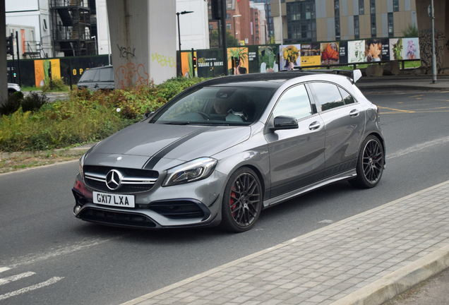
MULTIPOLYGON (((162 179, 159 179, 161 181, 162 179)), ((80 174, 72 189, 73 213, 88 222, 119 227, 158 229, 164 227, 215 226, 221 221, 222 191, 227 176, 215 171, 208 179, 177 186, 156 183, 148 192, 134 193, 135 208, 93 203, 92 191, 80 174)))

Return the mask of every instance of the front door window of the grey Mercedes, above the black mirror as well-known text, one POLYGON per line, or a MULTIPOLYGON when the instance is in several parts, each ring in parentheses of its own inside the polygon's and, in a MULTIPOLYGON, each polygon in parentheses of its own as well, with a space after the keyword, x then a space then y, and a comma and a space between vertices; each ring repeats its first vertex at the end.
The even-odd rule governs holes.
POLYGON ((312 114, 312 108, 304 85, 297 85, 284 92, 275 109, 273 116, 293 116, 299 120, 312 114))

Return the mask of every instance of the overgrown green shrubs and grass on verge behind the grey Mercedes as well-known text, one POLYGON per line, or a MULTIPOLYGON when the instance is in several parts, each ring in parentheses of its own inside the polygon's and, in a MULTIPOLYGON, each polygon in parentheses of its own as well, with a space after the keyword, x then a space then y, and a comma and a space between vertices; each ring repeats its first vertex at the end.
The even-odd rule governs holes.
POLYGON ((17 92, 13 111, 0 118, 0 151, 51 150, 102 140, 202 80, 172 78, 124 90, 73 90, 67 100, 53 103, 44 95, 31 94, 27 100, 17 92))

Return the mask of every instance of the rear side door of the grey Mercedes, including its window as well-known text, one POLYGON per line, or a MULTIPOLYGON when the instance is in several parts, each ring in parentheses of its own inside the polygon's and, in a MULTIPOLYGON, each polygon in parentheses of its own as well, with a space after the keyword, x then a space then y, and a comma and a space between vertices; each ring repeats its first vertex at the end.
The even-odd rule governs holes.
POLYGON ((365 128, 364 107, 333 83, 310 86, 325 126, 324 178, 354 169, 365 128))

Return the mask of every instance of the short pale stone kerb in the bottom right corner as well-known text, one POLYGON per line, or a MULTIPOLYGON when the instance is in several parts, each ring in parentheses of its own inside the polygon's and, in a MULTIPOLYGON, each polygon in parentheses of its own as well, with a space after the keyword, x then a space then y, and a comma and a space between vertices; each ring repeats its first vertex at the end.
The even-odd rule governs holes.
POLYGON ((383 304, 398 294, 428 280, 433 275, 449 268, 449 245, 419 258, 419 260, 385 275, 380 280, 348 294, 331 305, 375 305, 383 304))

